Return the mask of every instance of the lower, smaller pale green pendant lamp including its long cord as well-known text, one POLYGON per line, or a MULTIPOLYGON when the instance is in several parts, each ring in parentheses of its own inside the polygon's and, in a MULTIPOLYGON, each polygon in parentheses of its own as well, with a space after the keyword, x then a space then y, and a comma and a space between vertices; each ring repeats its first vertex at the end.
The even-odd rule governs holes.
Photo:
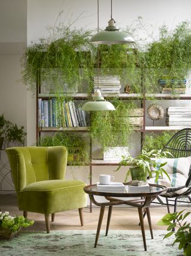
MULTIPOLYGON (((99 5, 97 0, 97 20, 99 20, 99 5)), ((98 23, 98 22, 97 22, 98 23)), ((99 24, 99 23, 98 23, 99 24)), ((97 25, 98 25, 97 24, 97 25)), ((99 31, 99 25, 97 26, 97 31, 99 31)), ((115 110, 115 107, 112 103, 109 101, 104 100, 104 98, 101 96, 101 92, 99 89, 99 49, 97 46, 97 89, 95 91, 95 94, 93 95, 93 101, 88 101, 82 106, 82 110, 85 111, 100 111, 100 110, 115 110)))

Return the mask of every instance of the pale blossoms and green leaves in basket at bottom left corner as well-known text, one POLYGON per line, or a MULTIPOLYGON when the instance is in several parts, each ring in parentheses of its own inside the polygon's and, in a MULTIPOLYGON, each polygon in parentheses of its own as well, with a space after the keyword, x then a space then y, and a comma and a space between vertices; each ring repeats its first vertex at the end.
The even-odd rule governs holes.
POLYGON ((13 217, 9 212, 0 212, 0 227, 11 231, 17 231, 20 227, 29 227, 34 221, 24 218, 24 216, 13 217))

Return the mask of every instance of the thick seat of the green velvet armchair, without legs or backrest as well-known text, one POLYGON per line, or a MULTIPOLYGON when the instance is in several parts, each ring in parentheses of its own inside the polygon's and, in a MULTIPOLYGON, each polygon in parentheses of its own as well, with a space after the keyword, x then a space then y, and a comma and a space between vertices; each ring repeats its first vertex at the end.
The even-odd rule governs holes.
POLYGON ((55 213, 87 206, 86 184, 80 180, 43 180, 18 192, 20 210, 55 213))

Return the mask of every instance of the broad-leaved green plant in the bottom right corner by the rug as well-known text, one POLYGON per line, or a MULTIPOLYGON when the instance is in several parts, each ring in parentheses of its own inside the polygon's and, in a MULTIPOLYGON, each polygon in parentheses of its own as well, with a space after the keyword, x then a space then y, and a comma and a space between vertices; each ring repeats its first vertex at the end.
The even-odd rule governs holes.
POLYGON ((183 249, 184 255, 191 255, 191 225, 190 222, 186 221, 186 217, 190 215, 191 212, 186 212, 183 215, 184 210, 180 212, 167 213, 159 222, 158 225, 167 225, 167 230, 170 231, 172 228, 177 227, 178 230, 173 232, 170 231, 164 236, 167 237, 175 235, 175 240, 172 245, 179 243, 178 249, 183 249))

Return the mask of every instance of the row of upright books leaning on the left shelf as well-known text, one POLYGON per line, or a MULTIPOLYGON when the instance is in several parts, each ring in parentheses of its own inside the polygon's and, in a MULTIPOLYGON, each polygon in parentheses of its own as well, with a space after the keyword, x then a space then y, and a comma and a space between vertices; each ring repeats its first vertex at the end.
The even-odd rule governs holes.
POLYGON ((39 127, 87 127, 86 114, 73 101, 38 99, 39 127))

